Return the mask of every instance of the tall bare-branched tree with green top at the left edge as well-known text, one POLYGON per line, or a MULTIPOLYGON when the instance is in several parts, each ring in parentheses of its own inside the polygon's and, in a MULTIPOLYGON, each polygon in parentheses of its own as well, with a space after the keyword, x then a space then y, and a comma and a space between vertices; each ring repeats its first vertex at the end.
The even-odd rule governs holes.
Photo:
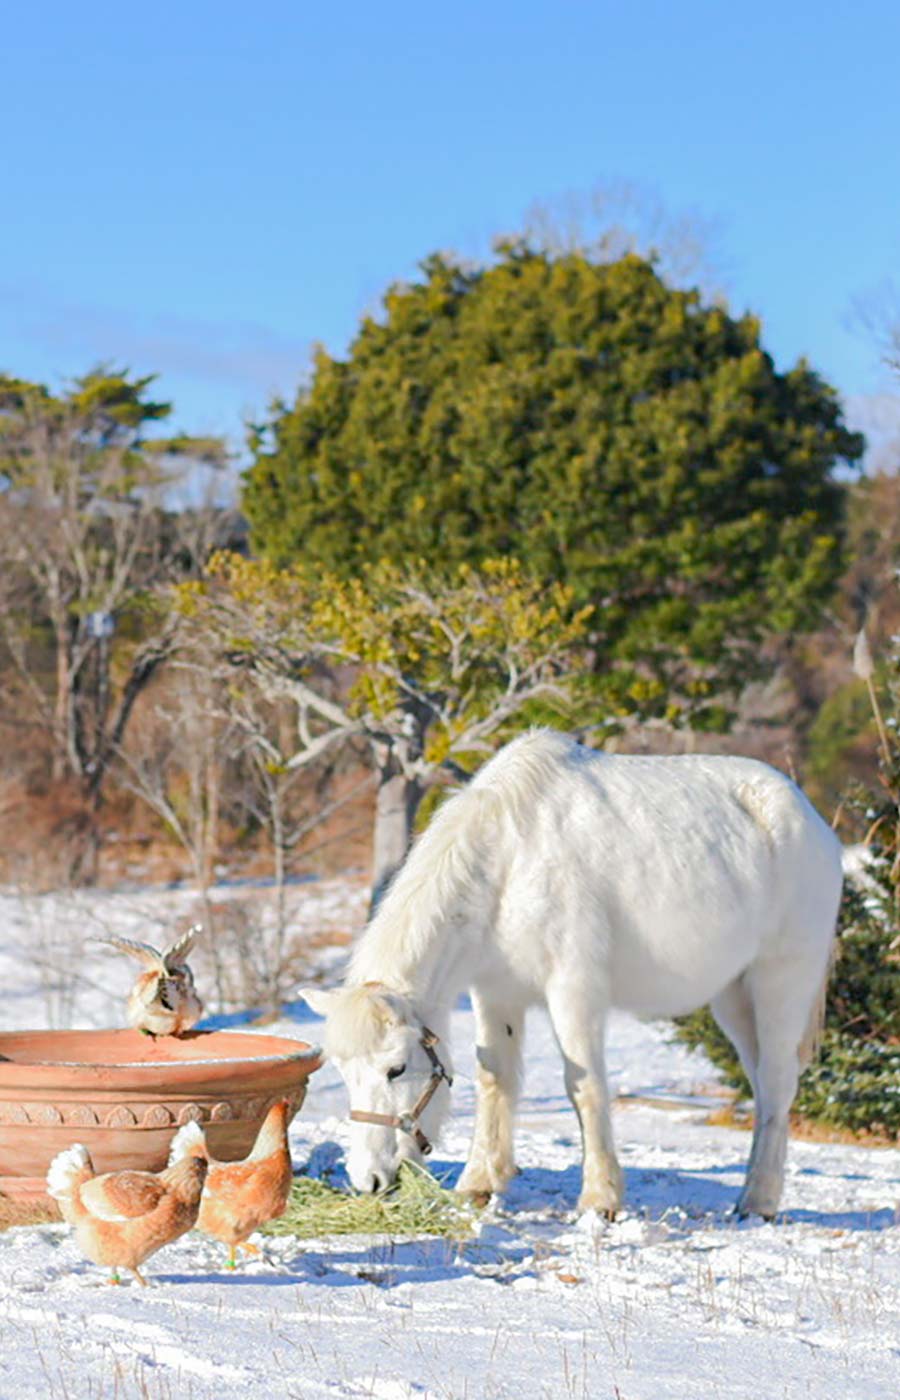
POLYGON ((150 384, 99 368, 52 395, 0 377, 0 641, 28 722, 50 736, 53 777, 94 802, 174 645, 153 589, 193 571, 230 528, 217 508, 168 508, 188 465, 220 463, 224 448, 147 440, 169 412, 150 384))

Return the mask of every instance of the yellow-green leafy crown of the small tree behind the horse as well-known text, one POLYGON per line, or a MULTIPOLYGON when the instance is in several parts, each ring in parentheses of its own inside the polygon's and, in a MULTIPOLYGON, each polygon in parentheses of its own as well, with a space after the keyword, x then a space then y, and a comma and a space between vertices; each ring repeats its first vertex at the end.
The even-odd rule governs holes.
POLYGON ((309 685, 322 665, 349 668, 342 703, 370 731, 416 703, 431 766, 481 759, 530 701, 558 714, 593 613, 509 559, 445 573, 379 561, 347 580, 228 553, 181 589, 179 606, 232 661, 309 685))

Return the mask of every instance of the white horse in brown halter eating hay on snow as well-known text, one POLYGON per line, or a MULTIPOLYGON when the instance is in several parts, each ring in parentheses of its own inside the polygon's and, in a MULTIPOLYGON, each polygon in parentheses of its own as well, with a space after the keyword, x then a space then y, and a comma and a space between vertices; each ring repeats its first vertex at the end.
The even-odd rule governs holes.
POLYGON ((551 731, 514 739, 416 841, 344 987, 302 993, 328 1016, 325 1049, 350 1092, 353 1184, 379 1190, 428 1149, 449 1106, 438 1043, 469 990, 477 1107, 459 1190, 500 1191, 515 1172, 522 1026, 543 1002, 581 1124, 578 1205, 613 1214, 607 1012, 710 1002, 756 1100, 738 1211, 774 1215, 840 889, 834 833, 764 763, 603 755, 551 731))

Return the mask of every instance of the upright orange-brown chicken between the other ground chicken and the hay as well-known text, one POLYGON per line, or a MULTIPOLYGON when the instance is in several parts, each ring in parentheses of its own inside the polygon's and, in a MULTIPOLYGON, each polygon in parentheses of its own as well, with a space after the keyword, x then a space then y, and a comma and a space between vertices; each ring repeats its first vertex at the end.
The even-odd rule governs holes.
POLYGON ((273 1103, 252 1152, 241 1162, 217 1162, 210 1156, 197 1123, 186 1123, 172 1138, 169 1168, 190 1158, 209 1162, 197 1229, 228 1245, 228 1268, 235 1267, 238 1246, 258 1254, 253 1245, 245 1243, 248 1235, 284 1214, 291 1189, 288 1113, 287 1099, 273 1103))

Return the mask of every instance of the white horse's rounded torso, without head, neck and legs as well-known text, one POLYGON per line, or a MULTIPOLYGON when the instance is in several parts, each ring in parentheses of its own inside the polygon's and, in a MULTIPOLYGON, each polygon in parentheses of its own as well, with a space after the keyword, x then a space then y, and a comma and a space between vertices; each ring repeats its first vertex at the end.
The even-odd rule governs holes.
POLYGON ((831 937, 840 846, 764 763, 537 732, 477 783, 500 818, 497 937, 532 981, 584 967, 614 1004, 675 1014, 757 958, 819 958, 831 937))

